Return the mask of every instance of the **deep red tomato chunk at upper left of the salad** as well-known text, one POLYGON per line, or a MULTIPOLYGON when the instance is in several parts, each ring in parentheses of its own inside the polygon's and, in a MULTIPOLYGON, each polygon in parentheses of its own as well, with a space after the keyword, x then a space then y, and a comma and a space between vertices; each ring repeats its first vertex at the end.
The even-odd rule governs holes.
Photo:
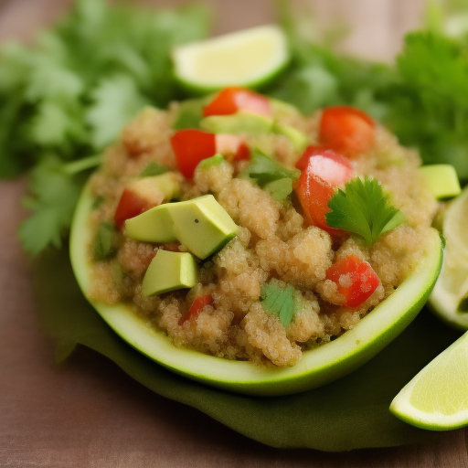
POLYGON ((215 133, 195 129, 179 130, 171 138, 171 144, 179 171, 186 178, 194 176, 200 161, 216 154, 215 133))

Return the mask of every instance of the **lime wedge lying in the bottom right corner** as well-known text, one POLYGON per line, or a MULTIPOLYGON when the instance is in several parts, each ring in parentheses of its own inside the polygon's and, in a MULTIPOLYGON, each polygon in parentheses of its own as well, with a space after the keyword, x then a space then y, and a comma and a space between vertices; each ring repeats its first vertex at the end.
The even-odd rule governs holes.
POLYGON ((390 411, 413 426, 468 426, 468 333, 433 359, 393 399, 390 411))

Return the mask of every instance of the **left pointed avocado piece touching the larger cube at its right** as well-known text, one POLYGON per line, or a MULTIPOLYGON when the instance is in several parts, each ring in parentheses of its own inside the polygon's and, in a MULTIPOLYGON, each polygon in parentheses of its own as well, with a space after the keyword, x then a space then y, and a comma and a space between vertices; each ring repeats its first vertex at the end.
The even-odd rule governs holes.
POLYGON ((172 205, 176 204, 165 203, 127 219, 125 235, 142 242, 175 242, 177 237, 170 214, 172 205))

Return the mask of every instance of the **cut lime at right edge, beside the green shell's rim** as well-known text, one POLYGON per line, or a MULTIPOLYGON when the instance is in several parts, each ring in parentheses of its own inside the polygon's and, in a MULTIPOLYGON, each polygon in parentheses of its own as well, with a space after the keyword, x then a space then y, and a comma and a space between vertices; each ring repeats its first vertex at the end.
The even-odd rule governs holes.
POLYGON ((468 329, 468 186, 448 204, 442 232, 447 244, 429 305, 445 322, 468 329))

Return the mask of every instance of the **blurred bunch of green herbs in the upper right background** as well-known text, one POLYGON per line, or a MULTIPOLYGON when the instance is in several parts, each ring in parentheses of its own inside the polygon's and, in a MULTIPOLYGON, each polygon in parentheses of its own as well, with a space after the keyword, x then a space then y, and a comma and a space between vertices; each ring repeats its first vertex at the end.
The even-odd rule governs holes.
POLYGON ((428 0, 426 28, 405 37, 394 64, 344 57, 312 42, 301 36, 301 18, 284 9, 293 66, 271 95, 306 114, 337 104, 361 109, 401 144, 418 148, 425 164, 451 164, 468 182, 468 27, 453 31, 467 0, 428 0))

